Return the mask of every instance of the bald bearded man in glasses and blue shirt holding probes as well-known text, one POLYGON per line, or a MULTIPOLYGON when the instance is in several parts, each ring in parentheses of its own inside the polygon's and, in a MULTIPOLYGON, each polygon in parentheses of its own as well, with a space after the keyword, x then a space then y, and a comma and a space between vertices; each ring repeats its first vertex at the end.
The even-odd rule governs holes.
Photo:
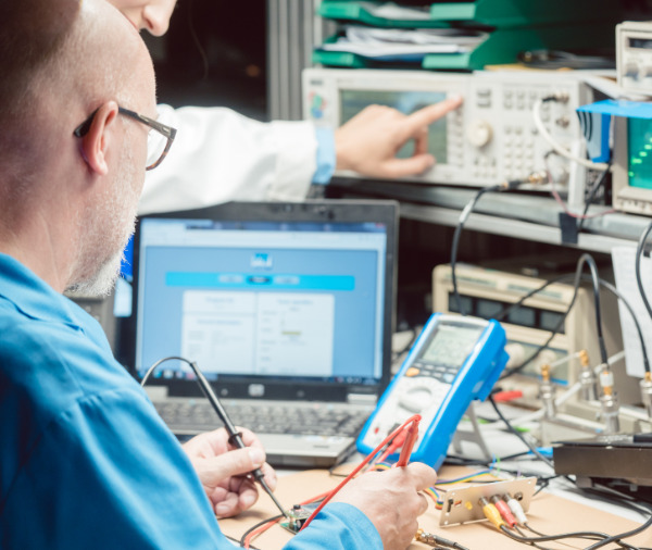
MULTIPOLYGON (((0 48, 0 548, 231 548, 216 516, 255 501, 243 475, 275 484, 256 438, 181 448, 61 295, 112 287, 143 168, 174 139, 147 49, 104 0, 2 2, 0 48)), ((404 548, 435 480, 365 474, 287 548, 404 548)))

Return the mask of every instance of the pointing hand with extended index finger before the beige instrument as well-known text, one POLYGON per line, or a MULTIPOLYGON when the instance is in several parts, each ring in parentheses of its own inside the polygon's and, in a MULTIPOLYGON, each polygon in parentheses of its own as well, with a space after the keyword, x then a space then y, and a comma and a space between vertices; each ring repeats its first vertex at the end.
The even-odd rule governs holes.
POLYGON ((363 109, 335 132, 337 170, 387 178, 425 172, 436 161, 428 153, 428 126, 461 104, 461 97, 450 98, 409 115, 384 105, 363 109), (413 155, 397 159, 410 139, 414 139, 413 155))

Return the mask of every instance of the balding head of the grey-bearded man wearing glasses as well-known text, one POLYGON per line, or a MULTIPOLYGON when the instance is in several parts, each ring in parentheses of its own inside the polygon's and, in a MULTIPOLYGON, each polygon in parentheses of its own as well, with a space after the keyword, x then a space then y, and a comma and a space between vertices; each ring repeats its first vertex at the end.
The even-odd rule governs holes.
POLYGON ((0 250, 58 290, 106 291, 133 230, 149 130, 118 105, 155 118, 151 60, 103 0, 3 3, 0 250))

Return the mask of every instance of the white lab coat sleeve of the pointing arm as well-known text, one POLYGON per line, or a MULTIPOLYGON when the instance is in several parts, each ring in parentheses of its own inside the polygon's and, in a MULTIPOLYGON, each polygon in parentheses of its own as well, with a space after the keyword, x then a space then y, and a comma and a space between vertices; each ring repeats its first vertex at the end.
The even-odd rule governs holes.
POLYGON ((316 170, 312 123, 262 123, 225 108, 158 110, 177 135, 162 164, 147 172, 139 214, 305 197, 316 170))

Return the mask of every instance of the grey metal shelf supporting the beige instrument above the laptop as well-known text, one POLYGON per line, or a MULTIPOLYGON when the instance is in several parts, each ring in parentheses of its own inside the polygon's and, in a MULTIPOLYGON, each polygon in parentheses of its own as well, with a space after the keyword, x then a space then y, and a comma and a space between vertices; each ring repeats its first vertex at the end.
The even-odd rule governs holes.
MULTIPOLYGON (((364 196, 394 199, 401 217, 454 227, 460 213, 476 190, 392 182, 335 179, 329 196, 364 196)), ((590 212, 607 210, 592 207, 590 212)), ((548 245, 610 253, 614 247, 636 246, 649 217, 610 213, 586 220, 577 243, 562 242, 559 228, 561 207, 551 198, 512 193, 486 193, 477 202, 464 227, 471 230, 548 245)))

